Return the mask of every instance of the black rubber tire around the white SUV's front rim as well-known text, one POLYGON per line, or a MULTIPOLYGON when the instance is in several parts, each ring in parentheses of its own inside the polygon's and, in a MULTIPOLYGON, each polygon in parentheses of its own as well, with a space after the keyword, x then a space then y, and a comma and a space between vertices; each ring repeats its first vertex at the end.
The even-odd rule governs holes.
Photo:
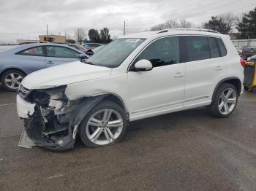
POLYGON ((102 146, 110 145, 110 144, 105 144, 105 145, 94 144, 92 141, 89 140, 89 138, 86 135, 86 125, 90 117, 102 109, 113 109, 114 111, 118 112, 118 114, 121 115, 121 118, 123 120, 123 128, 121 130, 120 135, 118 136, 117 139, 115 139, 110 144, 116 144, 118 141, 121 141, 121 139, 124 138, 124 135, 127 131, 127 117, 125 115, 124 109, 122 109, 121 106, 119 106, 113 101, 108 101, 108 100, 102 101, 96 106, 94 106, 94 108, 91 109, 91 111, 88 114, 86 114, 86 117, 84 117, 83 121, 80 123, 79 136, 80 136, 80 139, 83 141, 84 144, 86 144, 87 147, 102 147, 102 146))

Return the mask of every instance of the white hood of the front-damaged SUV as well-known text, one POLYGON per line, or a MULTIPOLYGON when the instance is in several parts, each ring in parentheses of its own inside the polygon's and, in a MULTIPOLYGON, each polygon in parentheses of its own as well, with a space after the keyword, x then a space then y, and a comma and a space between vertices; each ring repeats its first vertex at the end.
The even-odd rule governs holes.
POLYGON ((58 87, 75 82, 109 77, 111 71, 110 68, 76 61, 35 71, 23 79, 22 85, 30 90, 58 87))

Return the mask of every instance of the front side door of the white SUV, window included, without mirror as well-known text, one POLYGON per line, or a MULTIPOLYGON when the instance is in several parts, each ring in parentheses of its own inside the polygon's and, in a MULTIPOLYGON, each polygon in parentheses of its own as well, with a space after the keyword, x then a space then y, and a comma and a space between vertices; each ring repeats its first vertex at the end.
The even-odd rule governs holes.
POLYGON ((181 63, 178 36, 157 39, 140 53, 128 72, 131 115, 182 107, 185 63, 181 63), (151 61, 151 71, 135 71, 137 61, 151 61))

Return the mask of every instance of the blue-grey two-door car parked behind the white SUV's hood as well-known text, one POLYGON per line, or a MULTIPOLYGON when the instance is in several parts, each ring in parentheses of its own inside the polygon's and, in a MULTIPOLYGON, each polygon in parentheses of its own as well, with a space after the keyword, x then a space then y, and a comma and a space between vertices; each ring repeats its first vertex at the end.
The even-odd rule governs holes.
POLYGON ((23 78, 33 71, 89 58, 89 55, 65 44, 26 44, 0 52, 1 85, 18 90, 23 78))

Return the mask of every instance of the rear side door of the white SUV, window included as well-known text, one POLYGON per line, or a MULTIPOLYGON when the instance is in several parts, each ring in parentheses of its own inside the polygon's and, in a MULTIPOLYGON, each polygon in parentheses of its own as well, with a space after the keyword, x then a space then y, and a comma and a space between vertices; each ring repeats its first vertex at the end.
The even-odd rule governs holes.
POLYGON ((226 76, 217 38, 182 36, 182 42, 187 61, 184 106, 207 103, 217 83, 226 76))

